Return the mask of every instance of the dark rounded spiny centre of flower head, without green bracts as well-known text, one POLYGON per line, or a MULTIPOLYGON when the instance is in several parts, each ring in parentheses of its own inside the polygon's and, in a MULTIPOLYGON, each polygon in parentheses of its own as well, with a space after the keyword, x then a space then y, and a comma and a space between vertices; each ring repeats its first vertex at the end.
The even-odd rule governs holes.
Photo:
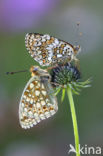
POLYGON ((59 85, 67 85, 69 83, 76 82, 80 79, 80 71, 77 67, 73 66, 70 63, 65 65, 58 65, 52 71, 51 81, 59 85))

